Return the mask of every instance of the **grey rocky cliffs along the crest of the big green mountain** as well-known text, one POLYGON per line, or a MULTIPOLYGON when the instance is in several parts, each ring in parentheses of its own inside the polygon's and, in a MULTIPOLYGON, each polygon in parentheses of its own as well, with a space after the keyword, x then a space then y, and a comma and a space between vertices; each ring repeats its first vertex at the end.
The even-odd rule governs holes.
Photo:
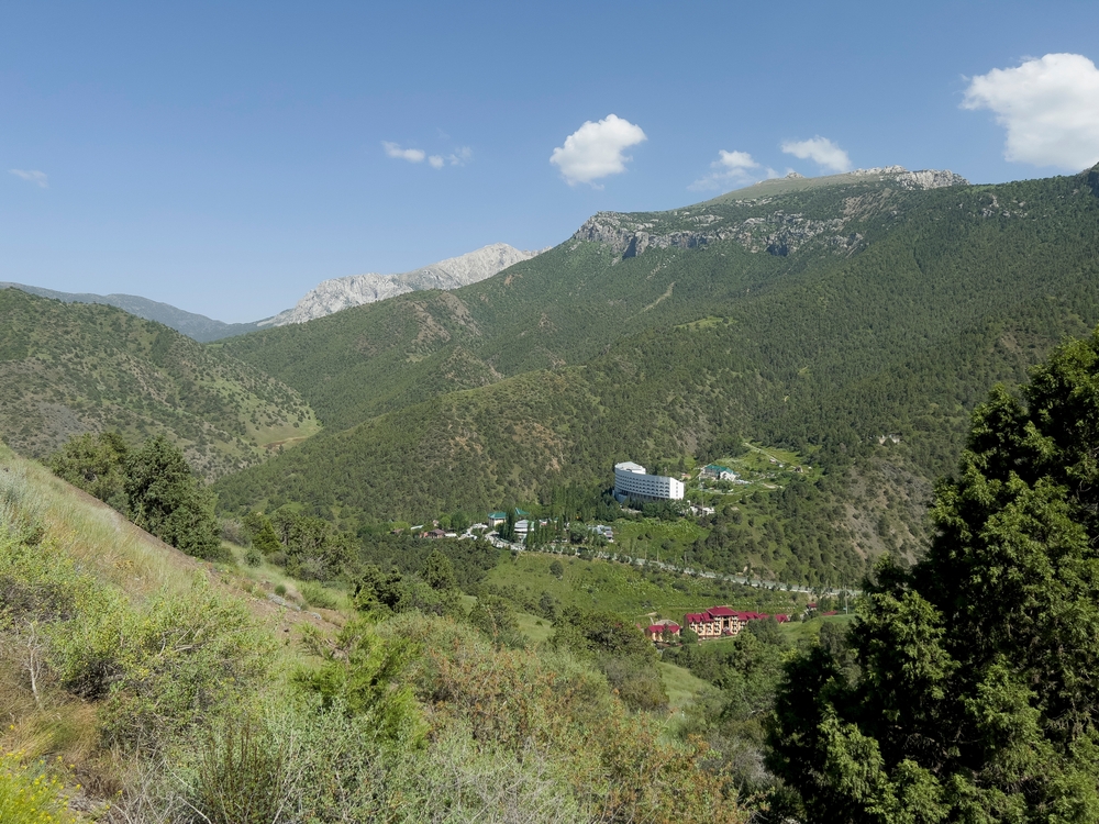
MULTIPOLYGON (((897 189, 939 189, 968 185, 964 177, 953 171, 936 169, 909 171, 902 166, 857 169, 832 179, 839 185, 841 178, 843 183, 873 181, 885 186, 893 185, 897 189)), ((803 180, 797 172, 785 179, 797 179, 799 182, 803 180)), ((774 199, 775 197, 763 196, 752 202, 755 207, 766 208, 774 199)), ((867 209, 869 201, 873 200, 875 199, 868 194, 847 198, 844 201, 842 216, 823 220, 789 213, 781 209, 757 216, 730 219, 728 215, 709 213, 708 204, 703 203, 673 212, 680 224, 674 229, 655 221, 637 220, 630 214, 599 212, 584 222, 584 225, 573 234, 573 240, 601 243, 609 246, 615 255, 621 255, 623 259, 636 257, 653 247, 689 249, 730 240, 752 253, 790 255, 815 240, 836 254, 847 254, 863 238, 857 233, 844 232, 844 227, 859 212, 867 209), (684 227, 685 223, 690 224, 690 227, 684 227)), ((717 207, 714 210, 719 211, 717 207)))

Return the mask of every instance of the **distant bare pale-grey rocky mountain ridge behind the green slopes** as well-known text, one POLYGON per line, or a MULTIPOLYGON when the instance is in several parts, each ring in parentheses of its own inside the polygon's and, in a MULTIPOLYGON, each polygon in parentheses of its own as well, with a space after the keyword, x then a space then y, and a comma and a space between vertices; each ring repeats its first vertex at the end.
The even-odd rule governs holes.
POLYGON ((404 292, 423 289, 457 289, 476 283, 507 269, 522 260, 529 260, 537 252, 524 252, 506 243, 495 243, 476 252, 440 260, 437 264, 400 275, 353 275, 333 278, 298 301, 293 309, 279 312, 264 326, 285 326, 288 323, 304 323, 314 318, 338 312, 342 309, 373 303, 404 292))

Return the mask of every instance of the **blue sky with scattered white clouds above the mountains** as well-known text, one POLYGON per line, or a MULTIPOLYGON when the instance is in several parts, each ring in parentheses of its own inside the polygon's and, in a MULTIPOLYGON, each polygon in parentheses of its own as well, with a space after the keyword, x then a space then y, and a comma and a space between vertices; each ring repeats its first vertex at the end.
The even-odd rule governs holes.
POLYGON ((1099 3, 0 4, 0 280, 244 322, 771 175, 1099 162, 1099 3))

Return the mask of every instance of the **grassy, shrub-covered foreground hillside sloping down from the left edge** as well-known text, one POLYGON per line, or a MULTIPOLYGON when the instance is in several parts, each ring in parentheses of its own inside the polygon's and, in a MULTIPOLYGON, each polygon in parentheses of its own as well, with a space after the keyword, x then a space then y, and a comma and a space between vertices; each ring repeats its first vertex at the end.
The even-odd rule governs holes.
POLYGON ((437 552, 419 574, 367 563, 376 588, 360 582, 337 628, 249 598, 231 567, 112 539, 110 511, 2 464, 0 686, 16 723, 0 747, 18 766, 0 797, 43 769, 76 820, 742 820, 704 743, 612 694, 608 660, 653 666, 636 631, 525 648, 492 631, 507 604, 466 612, 437 552))

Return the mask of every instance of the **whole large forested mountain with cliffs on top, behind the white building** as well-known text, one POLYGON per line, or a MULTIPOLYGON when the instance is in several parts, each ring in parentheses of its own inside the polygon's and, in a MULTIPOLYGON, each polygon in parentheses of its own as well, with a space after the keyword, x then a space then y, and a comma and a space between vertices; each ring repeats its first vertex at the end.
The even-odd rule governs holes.
MULTIPOLYGON (((675 467, 748 437, 829 469, 826 490, 790 493, 818 500, 803 563, 854 564, 873 548, 859 517, 891 517, 900 486, 946 469, 990 385, 1099 322, 1097 181, 847 177, 599 214, 481 283, 236 338, 230 352, 331 425, 222 481, 222 505, 417 519, 609 486, 615 460, 675 467)), ((776 544, 773 571, 801 566, 776 544)))

